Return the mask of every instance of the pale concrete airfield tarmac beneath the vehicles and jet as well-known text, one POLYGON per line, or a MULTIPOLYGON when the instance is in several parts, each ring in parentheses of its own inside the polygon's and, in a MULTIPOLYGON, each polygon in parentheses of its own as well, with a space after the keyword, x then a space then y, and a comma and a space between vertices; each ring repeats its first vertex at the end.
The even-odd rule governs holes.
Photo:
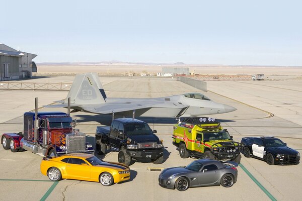
MULTIPOLYGON (((36 82, 71 83, 74 77, 37 78, 36 82)), ((212 115, 229 130, 234 140, 246 136, 279 136, 289 147, 302 150, 302 81, 207 81, 207 92, 174 79, 156 77, 102 77, 100 78, 109 97, 159 97, 187 92, 201 92, 215 102, 237 108, 232 113, 212 115)), ((63 99, 68 91, 0 90, 0 135, 22 131, 22 115, 34 109, 34 97, 39 107, 63 99)), ((54 109, 40 108, 39 111, 54 109)), ((66 109, 55 109, 66 112, 66 109)), ((96 126, 108 125, 111 117, 95 114, 72 113, 79 119, 79 128, 87 133, 87 140, 94 142, 96 126)), ((52 182, 40 173, 41 156, 28 151, 12 153, 0 147, 0 200, 83 200, 83 199, 131 199, 131 200, 300 200, 302 192, 302 166, 269 166, 264 161, 242 156, 238 167, 238 181, 231 188, 210 186, 190 188, 184 192, 162 188, 158 185, 160 172, 150 172, 148 167, 185 166, 194 158, 182 159, 172 145, 174 119, 144 119, 166 147, 165 162, 136 162, 130 166, 130 181, 109 187, 100 183, 61 180, 52 182), (253 179, 252 179, 253 178, 253 179), (257 181, 256 181, 257 180, 257 181)), ((98 155, 105 161, 117 161, 117 152, 98 155)))

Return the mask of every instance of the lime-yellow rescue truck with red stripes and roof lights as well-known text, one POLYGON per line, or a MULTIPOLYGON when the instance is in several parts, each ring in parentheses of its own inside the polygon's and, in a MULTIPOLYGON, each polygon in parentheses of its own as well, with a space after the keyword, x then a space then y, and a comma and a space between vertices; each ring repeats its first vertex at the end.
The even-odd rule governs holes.
POLYGON ((233 141, 233 136, 216 119, 188 117, 173 128, 173 145, 181 158, 194 156, 240 163, 241 144, 233 141))

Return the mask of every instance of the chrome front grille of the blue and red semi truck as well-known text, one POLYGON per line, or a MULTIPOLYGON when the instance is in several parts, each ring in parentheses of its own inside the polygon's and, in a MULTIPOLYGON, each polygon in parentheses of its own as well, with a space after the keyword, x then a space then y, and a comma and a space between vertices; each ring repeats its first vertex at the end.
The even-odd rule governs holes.
POLYGON ((86 136, 84 133, 66 134, 66 153, 85 152, 86 136))

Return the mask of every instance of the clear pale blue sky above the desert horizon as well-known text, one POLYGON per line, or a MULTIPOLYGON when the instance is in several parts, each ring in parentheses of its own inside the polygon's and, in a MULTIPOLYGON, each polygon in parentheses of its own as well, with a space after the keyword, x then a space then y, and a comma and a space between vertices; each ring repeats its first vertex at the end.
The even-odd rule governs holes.
POLYGON ((302 66, 301 1, 3 1, 0 43, 36 62, 302 66))

